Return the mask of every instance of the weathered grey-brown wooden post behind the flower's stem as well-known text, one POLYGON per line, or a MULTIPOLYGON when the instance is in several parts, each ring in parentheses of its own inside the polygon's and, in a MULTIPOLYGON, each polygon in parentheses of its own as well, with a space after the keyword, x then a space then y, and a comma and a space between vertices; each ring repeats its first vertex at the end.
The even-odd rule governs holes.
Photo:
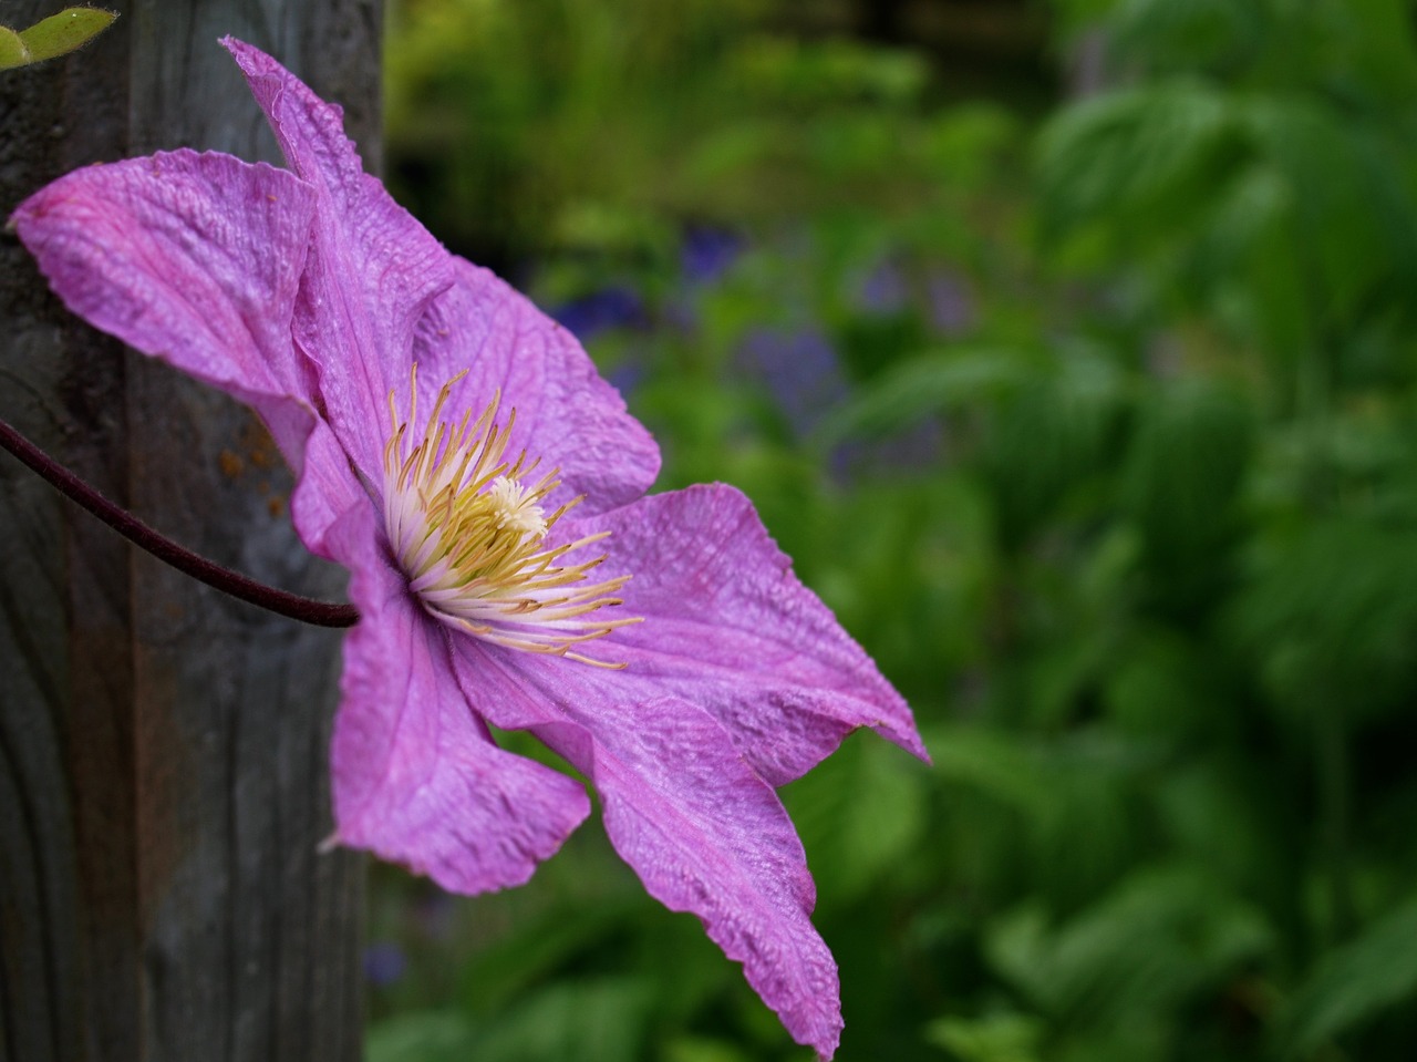
MULTIPOLYGON (((6 216, 159 147, 276 160, 228 33, 341 102, 377 160, 380 0, 105 6, 120 18, 82 51, 0 72, 6 216)), ((10 234, 0 415, 183 544, 340 597, 255 418, 72 319, 10 234)), ((339 647, 173 573, 0 455, 0 1061, 359 1058, 363 865, 316 852, 339 647)))

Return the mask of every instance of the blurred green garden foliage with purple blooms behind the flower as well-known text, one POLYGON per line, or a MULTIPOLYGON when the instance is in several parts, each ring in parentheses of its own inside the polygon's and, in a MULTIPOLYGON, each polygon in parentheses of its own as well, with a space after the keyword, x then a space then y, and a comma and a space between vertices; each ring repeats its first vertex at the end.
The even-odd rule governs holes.
MULTIPOLYGON (((784 791, 839 1058, 1411 1058, 1410 6, 1054 0, 1046 113, 794 10, 404 0, 388 145, 915 708, 784 791)), ((371 1062, 805 1058, 582 834, 380 872, 371 1062)))

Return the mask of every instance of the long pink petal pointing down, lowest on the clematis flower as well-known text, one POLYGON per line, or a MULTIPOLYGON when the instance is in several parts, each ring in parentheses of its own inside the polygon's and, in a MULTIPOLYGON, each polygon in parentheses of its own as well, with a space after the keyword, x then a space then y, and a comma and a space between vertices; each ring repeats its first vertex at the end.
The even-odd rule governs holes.
POLYGON ((458 638, 453 664, 482 715, 531 730, 591 778, 611 842, 646 890, 697 915, 788 1032, 830 1058, 840 990, 809 919, 802 845, 723 727, 677 698, 628 699, 615 673, 557 656, 458 638))

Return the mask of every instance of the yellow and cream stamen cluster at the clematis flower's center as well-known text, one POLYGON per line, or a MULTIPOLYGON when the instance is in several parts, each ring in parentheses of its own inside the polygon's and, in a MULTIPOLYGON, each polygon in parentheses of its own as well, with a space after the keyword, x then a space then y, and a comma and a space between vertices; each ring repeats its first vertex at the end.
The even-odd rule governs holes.
POLYGON ((589 583, 601 554, 570 563, 568 554, 609 532, 548 546, 551 529, 580 498, 550 516, 546 498, 557 471, 536 476, 540 459, 523 451, 506 459, 516 410, 496 423, 500 394, 476 421, 472 413, 455 425, 442 418, 459 373, 438 391, 438 401, 418 428, 418 367, 411 374, 408 417, 388 394, 393 432, 384 445, 384 527, 408 577, 408 588, 435 620, 497 645, 546 652, 623 668, 575 652, 639 617, 604 620, 594 613, 621 604, 616 591, 629 576, 589 583))

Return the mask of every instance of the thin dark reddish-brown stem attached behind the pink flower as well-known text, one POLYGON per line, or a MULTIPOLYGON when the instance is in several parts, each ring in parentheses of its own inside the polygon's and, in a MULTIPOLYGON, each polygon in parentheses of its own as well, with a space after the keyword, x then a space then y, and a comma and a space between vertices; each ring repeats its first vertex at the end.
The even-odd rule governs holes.
POLYGON ((316 627, 353 627, 359 622, 359 610, 354 605, 288 594, 285 590, 268 587, 265 583, 256 583, 231 569, 224 569, 221 564, 183 549, 171 539, 163 537, 126 509, 113 505, 4 420, 0 420, 0 445, 20 458, 38 476, 58 488, 69 501, 84 506, 135 546, 147 550, 184 576, 191 576, 248 604, 316 627))

